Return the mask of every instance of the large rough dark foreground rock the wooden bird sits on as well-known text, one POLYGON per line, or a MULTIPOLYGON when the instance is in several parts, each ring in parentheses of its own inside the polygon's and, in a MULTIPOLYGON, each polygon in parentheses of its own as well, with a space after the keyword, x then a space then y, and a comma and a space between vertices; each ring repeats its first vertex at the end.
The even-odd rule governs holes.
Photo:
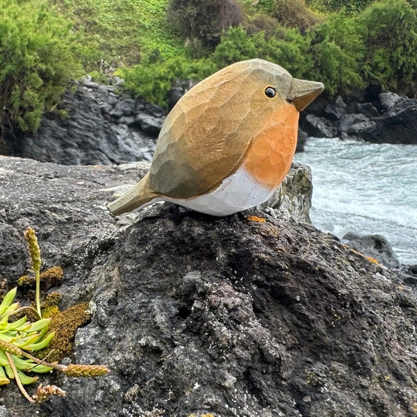
MULTIPOLYGON (((5 415, 414 415, 417 299, 381 265, 260 211, 212 218, 158 204, 112 218, 106 201, 145 164, 0 167, 0 262, 35 227, 44 268, 65 272, 63 307, 89 300, 94 311, 75 360, 112 370, 45 375, 67 397, 41 406, 3 386, 5 415)), ((26 266, 8 259, 1 288, 26 266)))

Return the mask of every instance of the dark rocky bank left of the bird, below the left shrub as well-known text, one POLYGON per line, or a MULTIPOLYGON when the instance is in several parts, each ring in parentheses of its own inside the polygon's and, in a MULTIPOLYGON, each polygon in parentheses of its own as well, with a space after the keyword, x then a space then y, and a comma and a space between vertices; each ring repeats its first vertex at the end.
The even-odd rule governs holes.
POLYGON ((154 138, 145 132, 127 129, 121 134, 117 125, 105 120, 104 115, 108 113, 117 113, 118 117, 133 114, 133 100, 133 104, 129 100, 120 101, 119 108, 111 110, 110 97, 112 95, 107 104, 99 106, 81 88, 74 94, 67 93, 63 99, 67 117, 45 116, 34 135, 10 138, 13 155, 64 165, 112 165, 143 160, 142 149, 153 151, 154 138))

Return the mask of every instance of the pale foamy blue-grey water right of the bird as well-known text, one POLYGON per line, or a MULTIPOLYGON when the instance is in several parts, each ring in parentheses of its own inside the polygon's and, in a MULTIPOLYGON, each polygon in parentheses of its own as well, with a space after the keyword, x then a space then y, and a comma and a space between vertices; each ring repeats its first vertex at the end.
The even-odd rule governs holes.
POLYGON ((417 145, 309 138, 295 161, 311 167, 318 229, 382 234, 401 263, 417 263, 417 145))

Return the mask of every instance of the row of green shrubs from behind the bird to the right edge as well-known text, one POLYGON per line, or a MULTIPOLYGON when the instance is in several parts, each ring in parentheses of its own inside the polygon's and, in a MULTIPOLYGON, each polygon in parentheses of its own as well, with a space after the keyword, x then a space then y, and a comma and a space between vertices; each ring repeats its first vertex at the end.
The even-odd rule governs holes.
MULTIPOLYGON (((416 95, 417 20, 409 2, 377 1, 356 14, 344 9, 327 15, 304 33, 298 27, 280 26, 274 23, 276 19, 272 22, 268 17, 265 31, 258 31, 262 16, 259 10, 273 13, 277 4, 284 1, 293 6, 301 4, 299 0, 263 0, 251 6, 246 1, 245 7, 256 9, 249 29, 237 26, 224 31, 220 43, 204 60, 156 59, 123 70, 126 86, 148 101, 165 104, 176 79, 202 79, 237 61, 263 58, 281 65, 297 78, 322 81, 328 97, 346 96, 352 90, 375 84, 385 90, 416 95)), ((369 2, 347 3, 363 8, 369 2)))

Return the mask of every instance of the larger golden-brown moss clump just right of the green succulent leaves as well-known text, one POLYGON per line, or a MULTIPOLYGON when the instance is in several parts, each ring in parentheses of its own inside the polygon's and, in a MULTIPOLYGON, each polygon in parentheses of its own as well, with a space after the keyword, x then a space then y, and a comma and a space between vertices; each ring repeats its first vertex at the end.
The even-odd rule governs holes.
POLYGON ((55 332, 55 337, 47 347, 39 352, 38 356, 42 358, 49 355, 49 362, 59 362, 64 357, 72 355, 77 329, 86 325, 91 319, 91 315, 88 313, 88 302, 76 304, 65 311, 60 311, 58 305, 54 304, 56 301, 56 295, 49 297, 47 306, 44 306, 43 309, 43 317, 51 318, 49 330, 55 332))

